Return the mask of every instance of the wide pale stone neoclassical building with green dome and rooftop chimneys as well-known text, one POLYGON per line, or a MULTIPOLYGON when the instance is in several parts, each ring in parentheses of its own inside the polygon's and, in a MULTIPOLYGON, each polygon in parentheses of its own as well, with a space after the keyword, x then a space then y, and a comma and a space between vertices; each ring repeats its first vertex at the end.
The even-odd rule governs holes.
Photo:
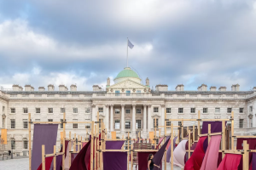
MULTIPOLYGON (((256 133, 256 87, 252 91, 240 91, 239 84, 226 87, 210 87, 202 84, 195 91, 186 91, 183 84, 169 90, 167 85, 149 88, 149 79, 143 80, 131 68, 126 67, 114 78, 114 84, 107 79, 106 90, 94 85, 92 91, 78 91, 76 85, 68 89, 59 85, 55 89, 49 84, 47 89, 35 90, 31 85, 24 88, 13 85, 11 90, 0 91, 0 127, 7 128, 8 144, 1 144, 1 151, 13 149, 15 153, 27 151, 28 113, 32 121, 59 122, 66 112, 67 121, 96 121, 97 111, 100 119, 110 132, 117 136, 131 132, 134 138, 141 131, 143 138, 154 130, 154 118, 162 126, 167 118, 230 118, 235 113, 235 135, 255 135, 256 133)), ((170 124, 171 122, 167 122, 170 124)), ((173 122, 178 125, 181 122, 173 122)), ((184 122, 184 126, 196 122, 184 122)), ((228 122, 229 123, 229 122, 228 122)), ((67 132, 84 136, 90 133, 90 124, 67 124, 67 132)), ((61 131, 61 125, 59 129, 61 131)), ((169 130, 169 129, 168 129, 169 130)), ((163 133, 163 131, 162 131, 163 133)), ((58 133, 58 144, 60 133, 58 133)))

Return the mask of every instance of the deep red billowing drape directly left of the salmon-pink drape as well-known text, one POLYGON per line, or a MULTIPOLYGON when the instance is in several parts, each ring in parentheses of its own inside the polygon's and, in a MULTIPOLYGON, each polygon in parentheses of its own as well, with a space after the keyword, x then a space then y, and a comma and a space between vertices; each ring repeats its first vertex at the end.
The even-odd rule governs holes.
POLYGON ((205 156, 203 143, 207 139, 206 136, 201 137, 196 144, 195 150, 189 160, 186 162, 184 170, 200 170, 201 163, 205 156))

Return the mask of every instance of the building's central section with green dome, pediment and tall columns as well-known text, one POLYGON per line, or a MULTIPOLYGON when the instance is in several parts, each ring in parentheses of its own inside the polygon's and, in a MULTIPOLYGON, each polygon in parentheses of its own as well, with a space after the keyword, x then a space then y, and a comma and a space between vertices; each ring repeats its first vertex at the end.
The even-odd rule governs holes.
POLYGON ((145 138, 148 132, 153 130, 154 118, 157 119, 157 124, 164 124, 164 100, 148 100, 148 95, 151 95, 148 78, 143 85, 138 74, 130 67, 125 67, 113 81, 114 84, 110 85, 109 78, 107 80, 107 100, 101 99, 100 96, 93 99, 93 121, 96 121, 96 113, 99 111, 100 119, 108 128, 108 133, 131 132, 135 135, 137 131, 141 131, 145 138), (145 99, 142 100, 143 96, 145 99))

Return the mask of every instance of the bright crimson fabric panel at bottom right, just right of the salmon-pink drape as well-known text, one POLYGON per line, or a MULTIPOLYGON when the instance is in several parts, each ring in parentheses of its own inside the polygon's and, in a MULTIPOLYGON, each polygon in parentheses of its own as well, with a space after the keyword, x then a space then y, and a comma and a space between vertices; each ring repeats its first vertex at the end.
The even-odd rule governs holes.
POLYGON ((217 170, 237 170, 241 161, 241 155, 226 154, 218 166, 217 170))

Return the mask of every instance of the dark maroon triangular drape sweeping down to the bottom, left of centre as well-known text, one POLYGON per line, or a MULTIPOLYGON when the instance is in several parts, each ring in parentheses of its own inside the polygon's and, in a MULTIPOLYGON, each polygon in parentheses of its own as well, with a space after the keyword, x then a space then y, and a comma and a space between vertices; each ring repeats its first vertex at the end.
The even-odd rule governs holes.
POLYGON ((71 167, 69 170, 87 170, 85 166, 85 155, 86 152, 88 152, 88 148, 90 146, 90 141, 83 147, 81 151, 79 151, 79 154, 74 158, 73 163, 71 164, 71 167))

